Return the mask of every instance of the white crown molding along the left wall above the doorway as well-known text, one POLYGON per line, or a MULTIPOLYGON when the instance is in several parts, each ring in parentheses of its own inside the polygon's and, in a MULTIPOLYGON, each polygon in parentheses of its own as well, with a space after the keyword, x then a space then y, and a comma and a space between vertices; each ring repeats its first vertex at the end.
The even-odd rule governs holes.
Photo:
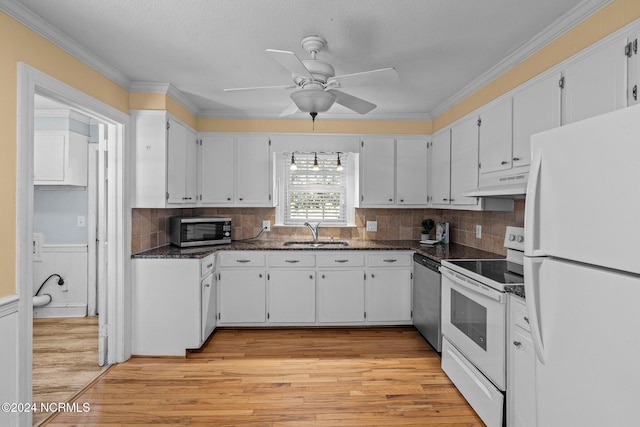
POLYGON ((40 18, 40 16, 27 9, 21 3, 15 0, 0 0, 0 11, 6 13, 25 27, 49 40, 51 43, 79 59, 109 80, 122 86, 124 89, 129 90, 131 81, 124 73, 107 64, 99 56, 80 46, 78 42, 62 33, 53 25, 47 23, 45 20, 40 18))

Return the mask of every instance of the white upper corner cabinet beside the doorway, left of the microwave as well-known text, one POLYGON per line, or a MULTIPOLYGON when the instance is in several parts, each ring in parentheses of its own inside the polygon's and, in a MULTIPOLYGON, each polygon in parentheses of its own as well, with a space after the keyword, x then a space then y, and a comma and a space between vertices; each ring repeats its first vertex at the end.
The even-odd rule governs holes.
POLYGON ((196 204, 195 132, 166 111, 131 113, 135 144, 136 208, 196 204))

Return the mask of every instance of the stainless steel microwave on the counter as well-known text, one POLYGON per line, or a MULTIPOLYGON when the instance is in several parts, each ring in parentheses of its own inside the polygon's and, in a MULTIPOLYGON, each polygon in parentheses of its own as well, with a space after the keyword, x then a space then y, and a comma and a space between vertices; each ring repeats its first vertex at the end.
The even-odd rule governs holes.
POLYGON ((231 243, 231 218, 173 216, 170 241, 181 248, 231 243))

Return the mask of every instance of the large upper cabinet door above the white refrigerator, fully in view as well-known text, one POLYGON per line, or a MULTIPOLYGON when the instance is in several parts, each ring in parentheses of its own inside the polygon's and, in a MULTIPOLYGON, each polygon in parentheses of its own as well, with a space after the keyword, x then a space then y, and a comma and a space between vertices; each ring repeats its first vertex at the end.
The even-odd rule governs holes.
POLYGON ((626 106, 626 43, 626 37, 617 39, 565 69, 564 124, 626 106))

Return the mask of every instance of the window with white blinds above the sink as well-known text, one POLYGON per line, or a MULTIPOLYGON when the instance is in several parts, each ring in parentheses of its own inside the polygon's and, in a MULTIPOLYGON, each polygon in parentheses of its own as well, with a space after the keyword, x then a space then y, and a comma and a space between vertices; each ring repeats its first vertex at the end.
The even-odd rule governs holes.
MULTIPOLYGON (((340 153, 342 170, 338 170, 338 153, 293 153, 296 169, 291 170, 291 153, 282 162, 284 191, 282 223, 302 225, 322 221, 324 225, 348 225, 349 155, 340 153), (317 157, 316 157, 317 156, 317 157), (318 168, 314 170, 317 158, 318 168)), ((353 210, 353 209, 351 209, 353 210)))

